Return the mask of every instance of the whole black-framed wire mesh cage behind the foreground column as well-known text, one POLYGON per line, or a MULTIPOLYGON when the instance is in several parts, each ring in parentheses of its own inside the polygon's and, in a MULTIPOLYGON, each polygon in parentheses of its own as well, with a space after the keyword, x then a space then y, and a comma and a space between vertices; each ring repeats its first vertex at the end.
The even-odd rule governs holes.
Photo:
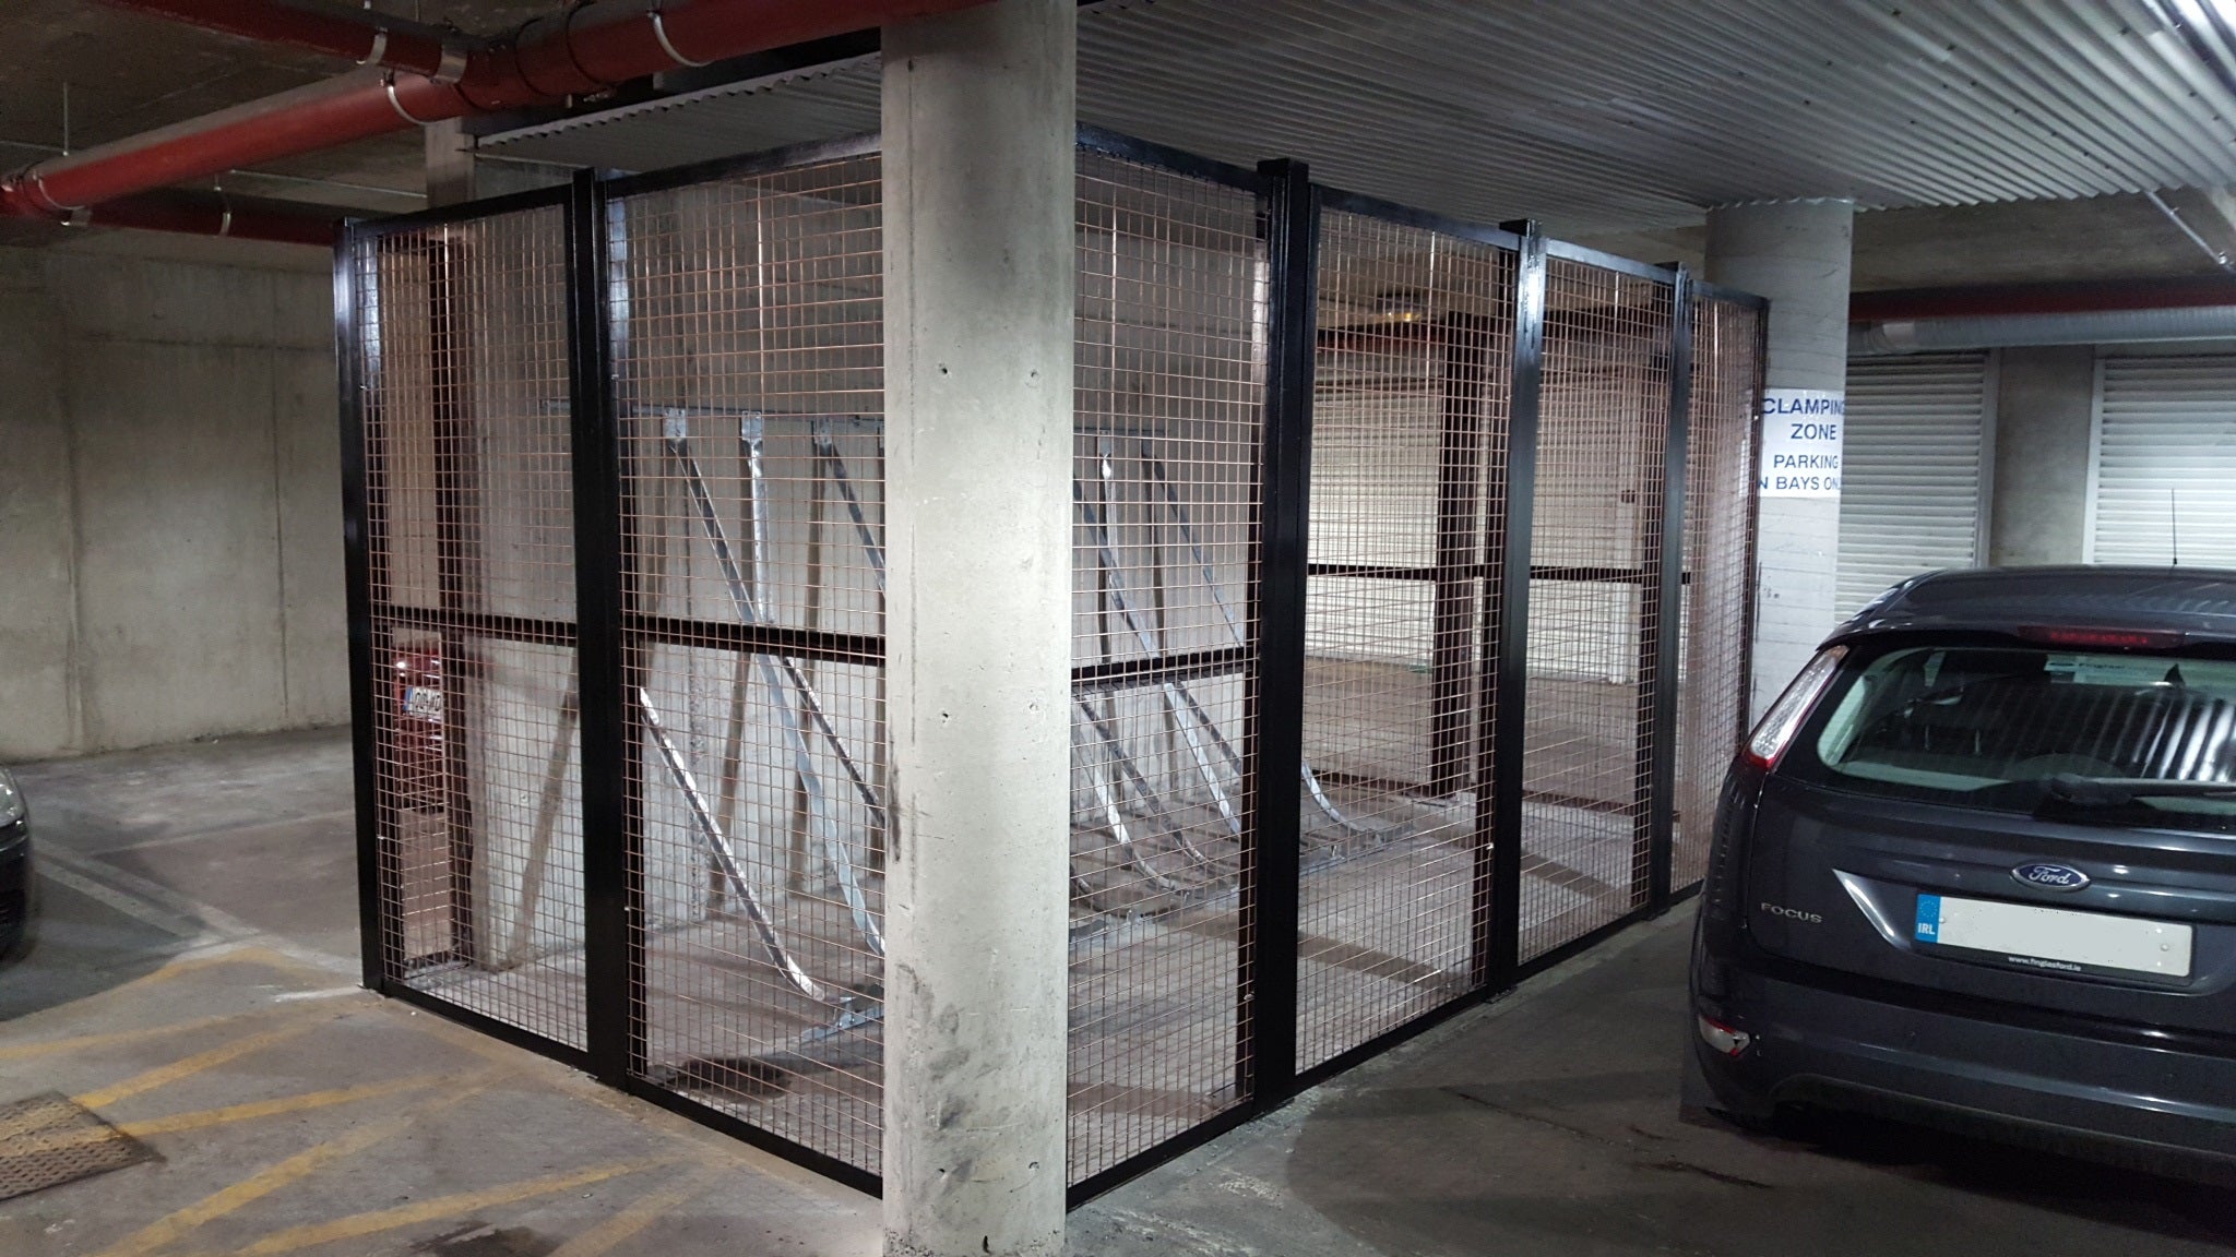
MULTIPOLYGON (((1076 221, 1080 1199, 1697 881, 1762 320, 1098 132, 1076 221)), ((874 141, 335 277, 367 984, 874 1190, 874 141)))

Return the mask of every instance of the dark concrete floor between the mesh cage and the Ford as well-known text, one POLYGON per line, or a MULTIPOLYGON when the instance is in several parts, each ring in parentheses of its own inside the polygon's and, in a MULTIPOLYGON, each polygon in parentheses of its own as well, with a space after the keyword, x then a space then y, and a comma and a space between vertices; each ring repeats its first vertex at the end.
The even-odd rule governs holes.
POLYGON ((2236 1192, 1822 1118, 1677 1116, 1690 913, 1637 926, 1073 1215, 1076 1253, 2207 1255, 2236 1192))

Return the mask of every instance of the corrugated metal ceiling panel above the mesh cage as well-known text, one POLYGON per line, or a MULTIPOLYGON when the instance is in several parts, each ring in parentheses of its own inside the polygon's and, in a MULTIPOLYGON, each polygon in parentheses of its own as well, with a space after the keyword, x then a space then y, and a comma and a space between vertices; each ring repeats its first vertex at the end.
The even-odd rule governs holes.
MULTIPOLYGON (((2236 96, 2142 0, 1118 0, 1080 116, 1237 163, 1563 233, 1702 206, 2236 183, 2236 96)), ((655 168, 877 125, 877 67, 501 143, 655 168)))

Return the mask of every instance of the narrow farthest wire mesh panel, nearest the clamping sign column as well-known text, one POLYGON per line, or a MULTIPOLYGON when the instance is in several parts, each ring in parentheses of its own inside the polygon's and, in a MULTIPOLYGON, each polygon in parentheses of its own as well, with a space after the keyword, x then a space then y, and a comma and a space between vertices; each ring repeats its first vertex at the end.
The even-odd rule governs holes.
POLYGON ((1760 385, 1762 311, 1724 300, 1695 302, 1673 886, 1693 886, 1708 870, 1717 792, 1746 725, 1760 385))

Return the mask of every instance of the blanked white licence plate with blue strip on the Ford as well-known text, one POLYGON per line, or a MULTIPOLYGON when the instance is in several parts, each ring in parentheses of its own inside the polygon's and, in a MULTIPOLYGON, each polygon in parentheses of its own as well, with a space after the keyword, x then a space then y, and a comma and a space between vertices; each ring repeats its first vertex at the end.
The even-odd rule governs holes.
POLYGON ((2037 908, 1995 899, 1918 895, 1923 944, 1988 951, 2048 973, 2151 973, 2189 977, 2196 930, 2171 922, 2037 908))

